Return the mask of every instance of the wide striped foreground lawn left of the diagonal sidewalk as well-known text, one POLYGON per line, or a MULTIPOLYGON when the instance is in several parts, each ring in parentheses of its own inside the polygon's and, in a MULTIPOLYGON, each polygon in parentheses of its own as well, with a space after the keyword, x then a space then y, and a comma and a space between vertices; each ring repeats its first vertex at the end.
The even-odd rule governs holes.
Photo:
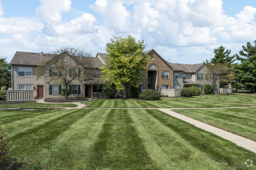
MULTIPOLYGON (((256 154, 155 109, 0 110, 20 169, 245 169, 256 154)), ((254 165, 253 165, 254 166, 254 165)))

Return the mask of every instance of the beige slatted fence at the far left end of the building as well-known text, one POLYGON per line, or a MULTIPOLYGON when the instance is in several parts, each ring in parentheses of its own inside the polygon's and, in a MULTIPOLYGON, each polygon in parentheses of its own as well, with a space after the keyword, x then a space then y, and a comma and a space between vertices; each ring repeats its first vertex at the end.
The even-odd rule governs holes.
POLYGON ((8 101, 33 101, 34 90, 7 90, 7 102, 8 101))

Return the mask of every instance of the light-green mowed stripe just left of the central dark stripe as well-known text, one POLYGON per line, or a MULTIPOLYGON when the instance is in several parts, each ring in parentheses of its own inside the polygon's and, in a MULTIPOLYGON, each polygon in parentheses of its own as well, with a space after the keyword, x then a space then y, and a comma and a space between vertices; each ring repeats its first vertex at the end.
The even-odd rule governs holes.
POLYGON ((83 118, 72 124, 69 130, 61 133, 49 149, 38 154, 41 166, 61 169, 85 169, 93 145, 102 129, 106 115, 111 111, 106 109, 86 109, 83 118))

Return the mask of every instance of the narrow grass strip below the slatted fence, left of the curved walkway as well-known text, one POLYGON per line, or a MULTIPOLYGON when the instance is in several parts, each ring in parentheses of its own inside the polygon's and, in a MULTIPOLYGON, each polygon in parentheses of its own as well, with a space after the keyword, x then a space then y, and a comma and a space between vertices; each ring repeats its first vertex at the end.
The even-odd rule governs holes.
POLYGON ((0 105, 0 108, 10 108, 10 107, 77 107, 77 105, 72 103, 19 103, 19 104, 10 104, 10 105, 0 105))

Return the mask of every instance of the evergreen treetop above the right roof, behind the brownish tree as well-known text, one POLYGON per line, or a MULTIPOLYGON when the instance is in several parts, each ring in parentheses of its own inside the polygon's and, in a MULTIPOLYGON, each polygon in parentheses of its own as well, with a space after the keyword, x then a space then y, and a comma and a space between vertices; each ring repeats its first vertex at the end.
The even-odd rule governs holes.
POLYGON ((230 50, 225 51, 225 47, 223 47, 223 46, 220 46, 217 49, 214 49, 213 53, 214 53, 214 57, 211 58, 211 63, 213 63, 213 64, 226 63, 226 64, 230 65, 236 60, 236 58, 235 58, 236 55, 231 56, 230 55, 231 51, 230 50))

